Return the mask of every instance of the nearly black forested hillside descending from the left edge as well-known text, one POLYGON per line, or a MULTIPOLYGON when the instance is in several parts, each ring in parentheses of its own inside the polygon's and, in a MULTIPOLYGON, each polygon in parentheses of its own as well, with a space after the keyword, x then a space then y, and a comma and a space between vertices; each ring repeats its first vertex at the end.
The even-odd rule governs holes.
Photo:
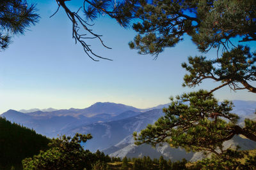
POLYGON ((46 150, 50 139, 0 117, 0 169, 21 169, 22 159, 46 150))

